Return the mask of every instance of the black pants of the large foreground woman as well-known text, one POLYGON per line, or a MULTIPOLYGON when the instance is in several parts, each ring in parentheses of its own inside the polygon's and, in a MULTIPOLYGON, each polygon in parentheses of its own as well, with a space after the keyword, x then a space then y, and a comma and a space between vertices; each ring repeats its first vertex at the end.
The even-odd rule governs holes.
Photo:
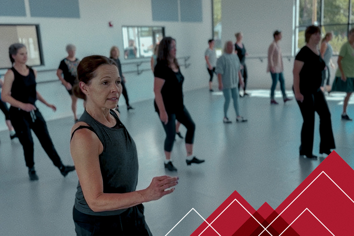
POLYGON ((145 222, 144 206, 130 207, 119 215, 88 215, 73 208, 76 235, 148 235, 152 236, 145 222))

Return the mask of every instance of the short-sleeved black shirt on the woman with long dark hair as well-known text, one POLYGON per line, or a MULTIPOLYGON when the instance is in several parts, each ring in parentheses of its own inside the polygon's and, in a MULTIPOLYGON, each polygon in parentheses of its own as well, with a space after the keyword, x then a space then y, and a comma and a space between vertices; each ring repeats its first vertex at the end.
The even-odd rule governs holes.
MULTIPOLYGON (((174 72, 165 62, 160 61, 154 70, 155 77, 165 80, 161 94, 167 114, 176 114, 183 111, 183 91, 182 85, 184 77, 181 70, 174 72)), ((159 112, 156 102, 155 110, 159 112)))

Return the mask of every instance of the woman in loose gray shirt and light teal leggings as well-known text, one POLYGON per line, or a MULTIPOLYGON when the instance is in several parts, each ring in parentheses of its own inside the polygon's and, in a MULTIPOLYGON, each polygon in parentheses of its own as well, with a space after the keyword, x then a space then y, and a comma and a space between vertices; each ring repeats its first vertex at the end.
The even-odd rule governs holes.
POLYGON ((223 91, 225 97, 224 103, 224 123, 231 123, 227 117, 230 99, 232 97, 236 112, 236 122, 247 121, 240 115, 239 90, 238 84, 244 86, 241 76, 241 63, 238 56, 234 53, 232 41, 227 41, 224 46, 224 53, 216 62, 215 73, 218 75, 219 90, 223 91))

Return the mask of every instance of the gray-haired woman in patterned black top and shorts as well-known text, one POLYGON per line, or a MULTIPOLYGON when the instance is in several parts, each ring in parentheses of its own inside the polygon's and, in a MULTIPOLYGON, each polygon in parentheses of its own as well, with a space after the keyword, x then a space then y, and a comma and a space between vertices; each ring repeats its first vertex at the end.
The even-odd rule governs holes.
POLYGON ((72 88, 75 84, 75 79, 77 77, 77 69, 80 60, 75 57, 75 45, 68 44, 66 46, 66 51, 68 52, 68 56, 60 62, 59 68, 57 69, 57 76, 62 82, 62 84, 65 86, 71 97, 71 109, 73 110, 74 120, 76 122, 78 121, 78 116, 76 115, 76 103, 78 102, 78 98, 73 94, 72 88))

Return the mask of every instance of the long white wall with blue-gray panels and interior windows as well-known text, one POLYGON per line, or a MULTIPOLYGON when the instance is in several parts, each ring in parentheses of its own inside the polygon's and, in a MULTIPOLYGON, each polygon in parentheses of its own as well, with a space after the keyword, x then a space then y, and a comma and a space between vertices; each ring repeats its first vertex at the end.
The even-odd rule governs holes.
MULTIPOLYGON (((181 69, 185 77, 185 91, 207 86, 208 73, 205 69, 204 51, 208 46, 207 40, 212 35, 211 0, 202 0, 203 21, 197 23, 152 21, 151 0, 79 0, 79 19, 30 17, 28 0, 25 0, 25 3, 27 17, 0 17, 0 22, 2 24, 40 25, 45 65, 35 67, 39 71, 38 81, 57 79, 55 70, 48 72, 40 72, 40 70, 57 69, 59 62, 67 56, 65 46, 68 43, 76 45, 78 58, 92 54, 109 56, 111 46, 123 47, 122 25, 141 25, 165 27, 165 35, 172 36, 177 41, 177 57, 191 57, 190 67, 181 69), (112 21, 113 28, 108 27, 109 21, 112 21)), ((129 61, 121 57, 121 62, 129 61)), ((142 68, 149 68, 149 64, 144 64, 142 68)), ((131 66, 123 65, 122 70, 123 73, 124 70, 131 70, 131 66)), ((5 72, 5 70, 0 70, 0 74, 5 72)), ((132 103, 154 97, 151 71, 140 75, 126 74, 126 79, 127 91, 132 103)), ((50 111, 44 113, 47 120, 72 116, 70 98, 60 83, 38 84, 38 91, 48 102, 58 106, 56 113, 50 111)), ((121 99, 120 104, 124 105, 124 103, 124 99, 121 99)), ((41 109, 40 102, 37 104, 41 109)), ((82 105, 79 103, 78 113, 82 111, 82 105)), ((0 113, 0 130, 6 129, 2 117, 0 113)))

